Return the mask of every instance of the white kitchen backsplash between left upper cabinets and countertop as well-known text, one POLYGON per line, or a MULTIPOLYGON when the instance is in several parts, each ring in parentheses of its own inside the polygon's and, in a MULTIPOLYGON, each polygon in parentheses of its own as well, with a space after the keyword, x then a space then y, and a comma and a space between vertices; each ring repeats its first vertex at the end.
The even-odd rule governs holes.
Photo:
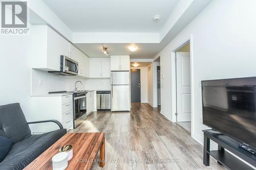
POLYGON ((75 90, 76 81, 78 90, 85 90, 86 80, 78 76, 61 76, 49 73, 44 70, 31 70, 31 93, 32 94, 47 94, 50 91, 73 91, 75 90))

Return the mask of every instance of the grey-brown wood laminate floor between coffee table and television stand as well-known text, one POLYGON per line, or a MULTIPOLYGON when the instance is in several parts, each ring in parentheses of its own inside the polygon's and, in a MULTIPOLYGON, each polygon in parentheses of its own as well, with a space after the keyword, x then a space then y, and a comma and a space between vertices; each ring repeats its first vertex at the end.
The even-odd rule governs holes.
POLYGON ((105 132, 108 160, 92 169, 225 169, 212 158, 204 166, 202 145, 148 104, 133 103, 131 112, 93 112, 69 132, 105 132))

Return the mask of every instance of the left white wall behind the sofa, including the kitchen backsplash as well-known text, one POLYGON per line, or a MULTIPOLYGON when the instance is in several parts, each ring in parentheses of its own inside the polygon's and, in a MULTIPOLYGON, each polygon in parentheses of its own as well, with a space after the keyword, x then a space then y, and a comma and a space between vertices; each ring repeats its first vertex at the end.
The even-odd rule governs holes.
MULTIPOLYGON (((32 27, 30 27, 31 31, 32 27)), ((49 91, 74 90, 79 77, 64 77, 49 74, 46 71, 32 70, 30 53, 30 34, 0 35, 0 105, 20 103, 27 120, 31 121, 30 95, 48 93, 49 91), (39 79, 42 84, 39 85, 39 79), (31 81, 33 80, 33 81, 31 81), (32 88, 33 87, 33 88, 32 88)))

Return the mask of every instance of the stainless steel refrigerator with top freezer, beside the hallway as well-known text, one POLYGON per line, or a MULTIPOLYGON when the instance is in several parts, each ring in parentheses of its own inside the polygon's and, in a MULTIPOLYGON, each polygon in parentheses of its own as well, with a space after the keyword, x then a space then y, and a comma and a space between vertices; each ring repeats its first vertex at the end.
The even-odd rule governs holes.
POLYGON ((111 111, 130 111, 130 71, 111 71, 111 111))

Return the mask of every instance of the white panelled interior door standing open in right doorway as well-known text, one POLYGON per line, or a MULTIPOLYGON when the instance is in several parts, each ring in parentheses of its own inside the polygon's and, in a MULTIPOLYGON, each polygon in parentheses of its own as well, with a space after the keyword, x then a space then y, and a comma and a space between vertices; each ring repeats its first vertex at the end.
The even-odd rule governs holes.
POLYGON ((176 52, 177 122, 191 121, 190 54, 176 52))

